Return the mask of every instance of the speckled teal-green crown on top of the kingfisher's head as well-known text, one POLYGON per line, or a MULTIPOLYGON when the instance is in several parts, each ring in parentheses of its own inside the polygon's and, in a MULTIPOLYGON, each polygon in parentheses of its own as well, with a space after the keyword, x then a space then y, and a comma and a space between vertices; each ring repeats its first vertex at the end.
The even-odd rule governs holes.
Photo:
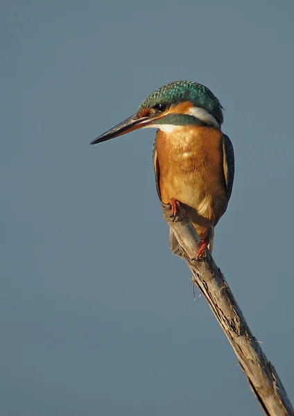
POLYGON ((195 107, 201 107, 213 115, 219 124, 223 123, 223 107, 218 98, 204 85, 193 81, 175 81, 160 87, 150 94, 139 107, 139 112, 155 104, 167 103, 177 105, 184 101, 190 101, 195 107))

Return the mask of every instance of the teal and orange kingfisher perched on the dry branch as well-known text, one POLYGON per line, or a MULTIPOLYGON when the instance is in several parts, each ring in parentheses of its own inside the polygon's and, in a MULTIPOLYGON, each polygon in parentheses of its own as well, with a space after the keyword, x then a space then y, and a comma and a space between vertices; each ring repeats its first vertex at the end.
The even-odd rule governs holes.
MULTIPOLYGON (((196 259, 212 252, 214 227, 225 213, 234 182, 234 148, 221 130, 223 107, 204 85, 175 81, 160 87, 128 119, 91 144, 125 135, 139 128, 156 128, 153 164, 159 199, 186 211, 200 236, 196 259)), ((181 255, 170 229, 174 254, 181 255)))

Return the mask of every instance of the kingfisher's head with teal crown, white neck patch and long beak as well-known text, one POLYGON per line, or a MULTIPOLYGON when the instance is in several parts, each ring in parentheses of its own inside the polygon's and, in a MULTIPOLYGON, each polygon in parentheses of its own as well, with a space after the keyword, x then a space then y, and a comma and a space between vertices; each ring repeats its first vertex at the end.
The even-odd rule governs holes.
POLYGON ((223 107, 207 87, 192 81, 175 81, 150 94, 141 103, 137 113, 97 137, 91 144, 138 128, 172 132, 175 126, 208 125, 220 128, 222 123, 223 107))

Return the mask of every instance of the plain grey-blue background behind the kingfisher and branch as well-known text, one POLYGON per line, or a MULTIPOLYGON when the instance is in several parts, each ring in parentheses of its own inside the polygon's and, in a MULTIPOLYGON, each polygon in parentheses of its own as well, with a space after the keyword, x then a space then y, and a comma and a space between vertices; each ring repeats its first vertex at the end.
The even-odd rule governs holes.
POLYGON ((214 258, 293 402, 293 0, 0 8, 1 415, 262 414, 169 251, 155 130, 89 146, 173 80, 225 107, 214 258))

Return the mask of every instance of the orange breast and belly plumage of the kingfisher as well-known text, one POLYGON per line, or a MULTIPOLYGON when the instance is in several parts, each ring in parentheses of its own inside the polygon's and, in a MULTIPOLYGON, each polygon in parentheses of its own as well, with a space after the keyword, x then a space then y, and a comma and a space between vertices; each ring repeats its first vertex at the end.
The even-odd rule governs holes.
POLYGON ((227 207, 222 132, 175 126, 171 133, 157 132, 155 148, 162 202, 179 200, 201 236, 216 225, 227 207))

